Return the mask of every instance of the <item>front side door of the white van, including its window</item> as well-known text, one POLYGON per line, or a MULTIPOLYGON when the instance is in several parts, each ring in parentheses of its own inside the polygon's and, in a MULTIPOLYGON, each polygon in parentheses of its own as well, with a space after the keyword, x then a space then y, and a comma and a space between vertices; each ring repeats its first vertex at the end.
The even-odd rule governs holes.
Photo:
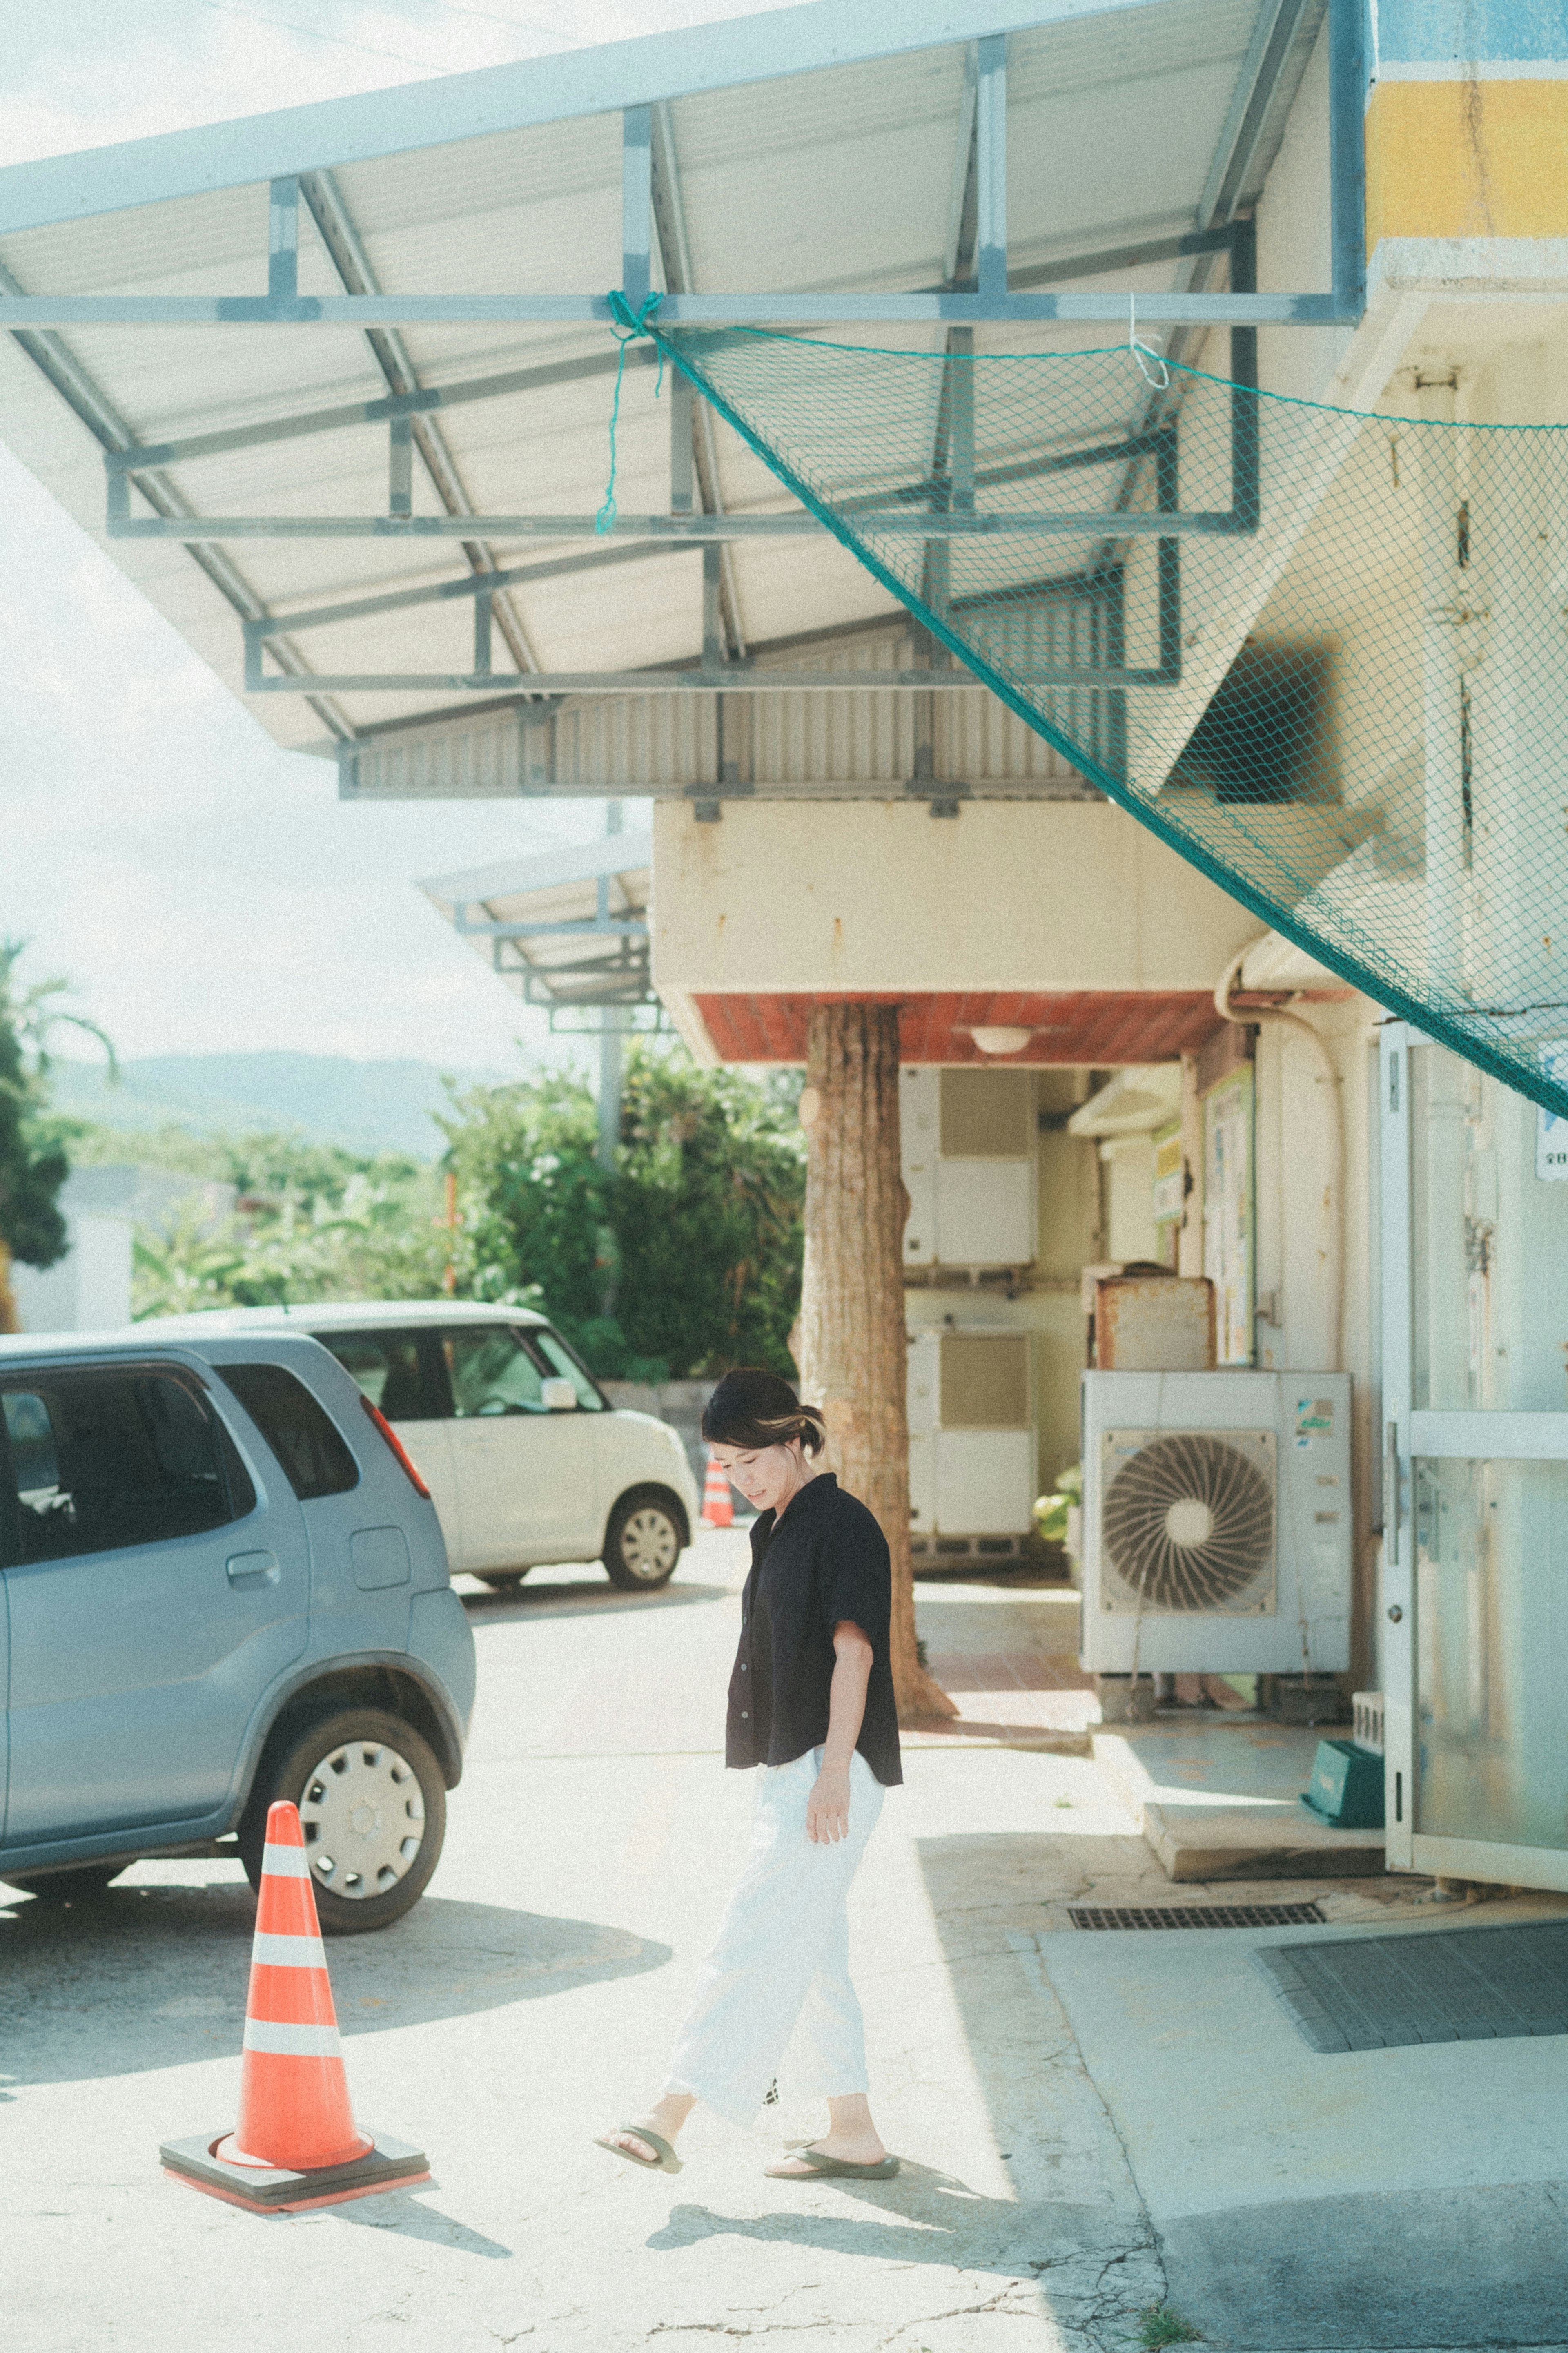
POLYGON ((529 1341, 510 1325, 440 1334, 468 1569, 592 1560, 604 1534, 592 1412, 545 1407, 543 1384, 557 1372, 529 1341))

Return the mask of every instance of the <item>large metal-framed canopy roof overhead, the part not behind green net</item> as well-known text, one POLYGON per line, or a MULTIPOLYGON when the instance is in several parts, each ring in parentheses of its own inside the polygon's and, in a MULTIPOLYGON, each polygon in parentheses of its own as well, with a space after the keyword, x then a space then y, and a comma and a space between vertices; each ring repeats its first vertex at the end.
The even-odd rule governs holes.
POLYGON ((639 344, 595 532, 607 296, 929 351, 1103 341, 1128 287, 1352 318, 1359 0, 1333 289, 1208 292, 1326 5, 823 0, 16 165, 2 431, 346 791, 929 791, 943 727, 1074 791, 639 344))

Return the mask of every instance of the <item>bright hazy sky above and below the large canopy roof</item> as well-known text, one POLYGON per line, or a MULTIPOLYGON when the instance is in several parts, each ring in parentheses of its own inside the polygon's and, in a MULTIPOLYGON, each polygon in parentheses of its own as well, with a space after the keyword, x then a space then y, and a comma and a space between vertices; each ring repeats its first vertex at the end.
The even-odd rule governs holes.
MULTIPOLYGON (((745 0, 0 0, 0 155, 463 73, 745 0)), ((0 416, 0 440, 5 419, 0 416)), ((0 447, 0 932, 122 1054, 505 1066, 529 1014, 414 878, 602 831, 602 805, 343 807, 0 447)), ((635 819, 637 805, 628 805, 635 819)))

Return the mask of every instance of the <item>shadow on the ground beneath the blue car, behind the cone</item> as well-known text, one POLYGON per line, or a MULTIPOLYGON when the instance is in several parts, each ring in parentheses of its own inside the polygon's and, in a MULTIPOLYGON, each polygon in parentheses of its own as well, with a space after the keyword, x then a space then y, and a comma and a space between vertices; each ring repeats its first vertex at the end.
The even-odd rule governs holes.
MULTIPOLYGON (((78 2082, 240 2052, 256 1899, 235 1880, 108 1887, 94 1901, 0 1908, 0 2078, 78 2082)), ((470 2017, 635 1977, 668 1944, 597 1920, 423 1897, 376 1937, 339 1937, 346 2035, 470 2017)))

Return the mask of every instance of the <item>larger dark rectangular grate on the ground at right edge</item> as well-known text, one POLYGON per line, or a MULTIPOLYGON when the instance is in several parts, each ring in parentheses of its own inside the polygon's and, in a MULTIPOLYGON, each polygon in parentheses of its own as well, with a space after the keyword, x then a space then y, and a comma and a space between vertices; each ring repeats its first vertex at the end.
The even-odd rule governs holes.
POLYGON ((1314 2052, 1568 2033, 1568 1922, 1279 1944, 1253 1960, 1314 2052))

